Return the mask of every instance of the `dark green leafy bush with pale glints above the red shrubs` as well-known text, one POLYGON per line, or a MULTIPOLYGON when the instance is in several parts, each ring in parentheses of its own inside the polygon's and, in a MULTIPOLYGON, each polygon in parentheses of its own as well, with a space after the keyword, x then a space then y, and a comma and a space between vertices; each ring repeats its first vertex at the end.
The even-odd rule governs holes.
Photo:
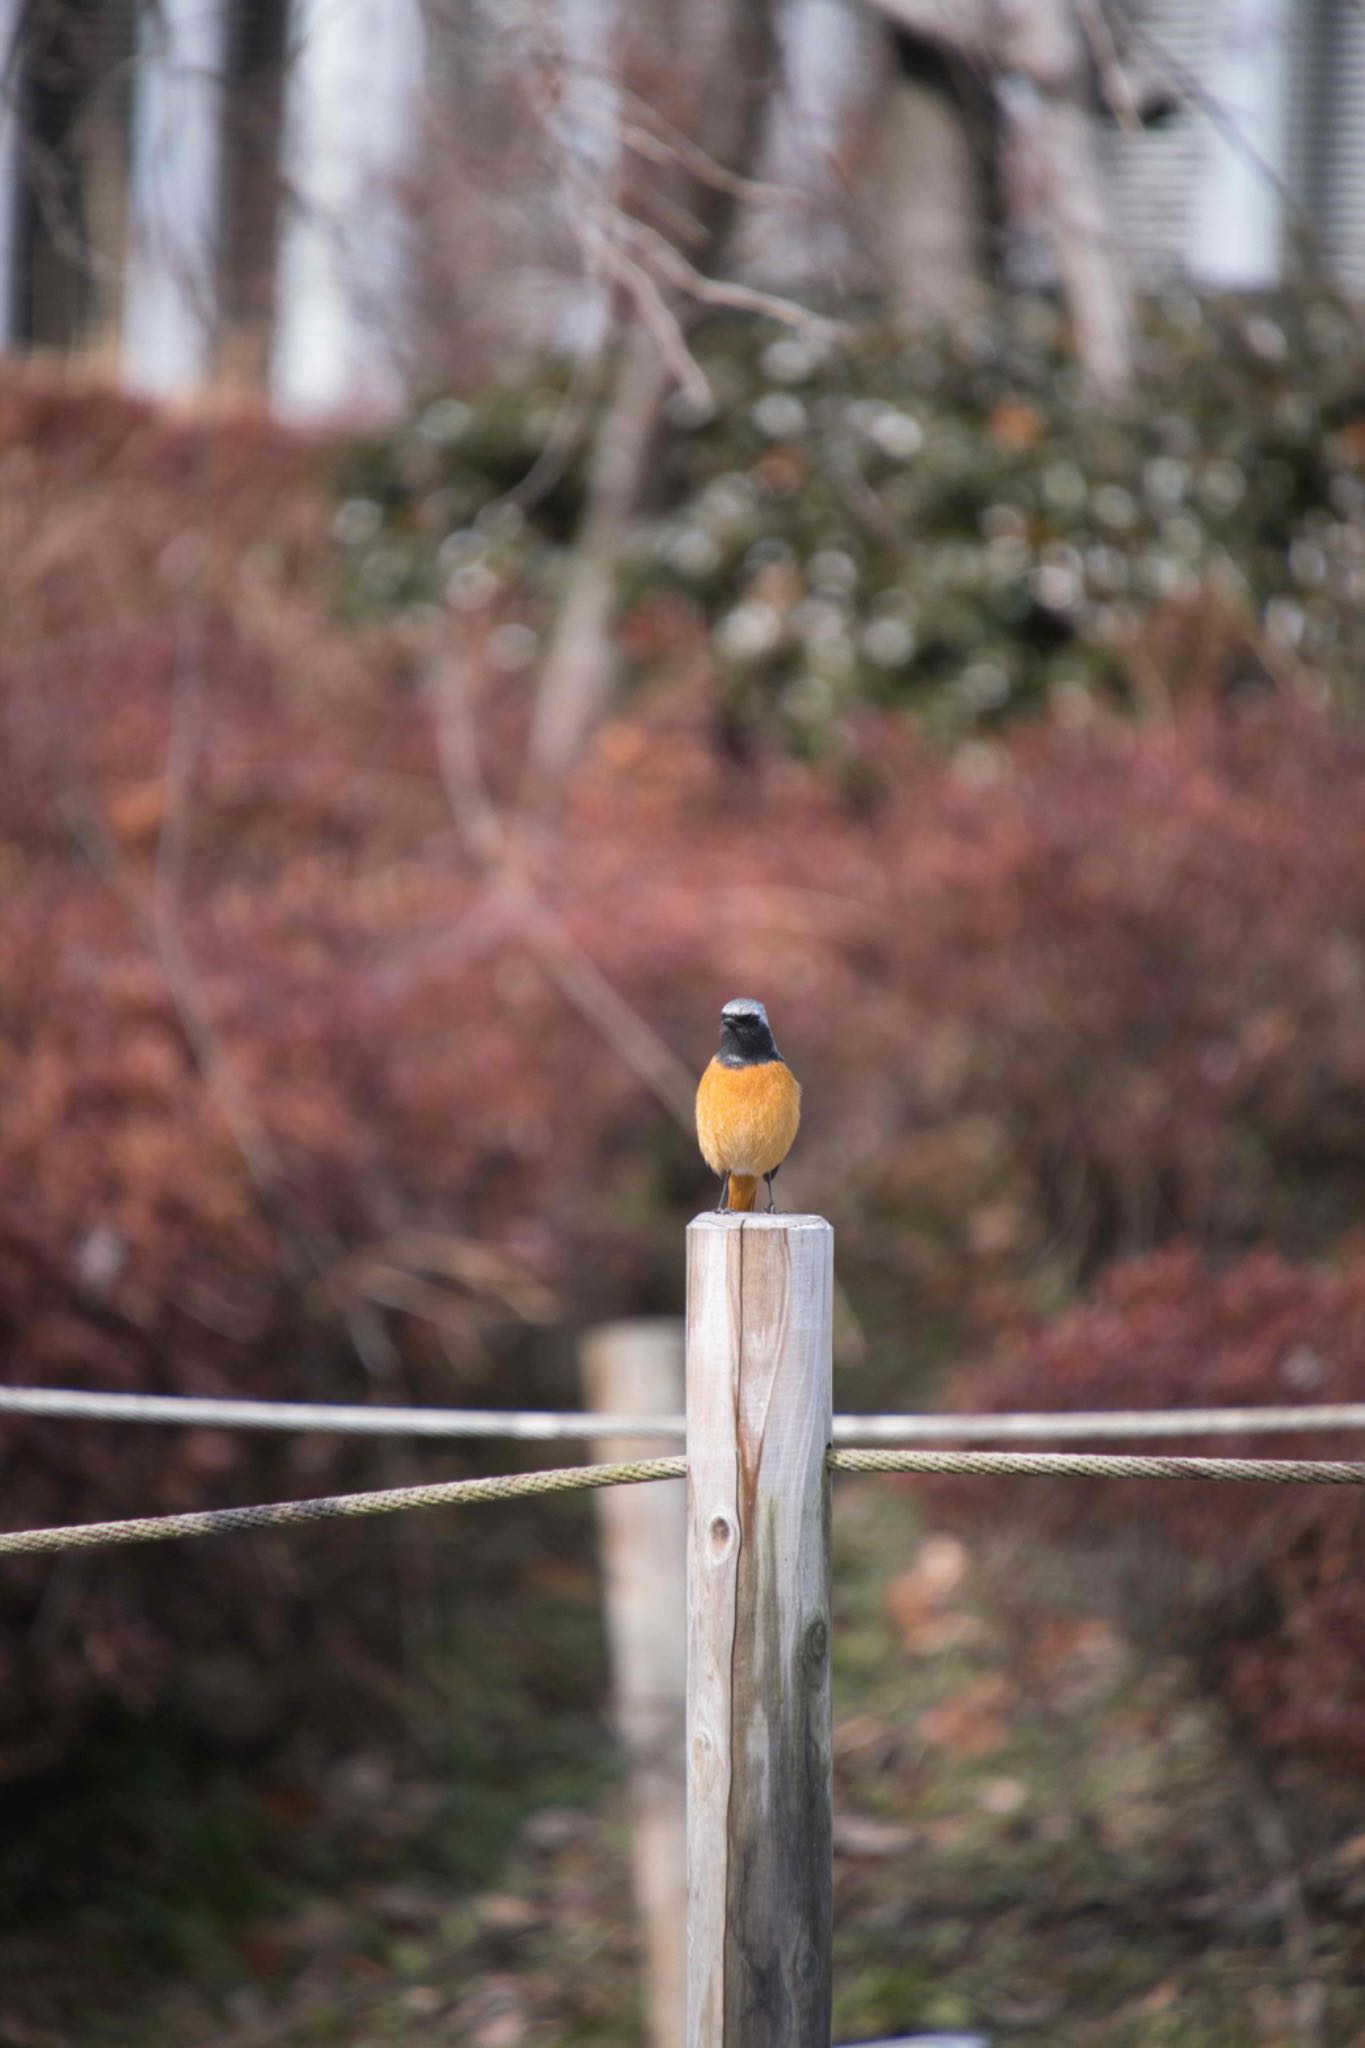
MULTIPOLYGON (((622 604, 675 596, 710 633, 735 729, 821 752, 857 705, 935 737, 1056 696, 1138 707, 1181 686, 1152 616, 1214 606, 1199 678, 1351 692, 1361 666, 1361 350, 1334 297, 1171 289, 1144 307, 1140 403, 1083 401, 1062 309, 853 344, 769 324, 696 338, 712 401, 677 393, 630 535, 622 604), (1240 631, 1240 641, 1238 641, 1240 631)), ((567 373, 436 397, 342 465, 350 616, 518 608, 528 668, 581 514, 593 399, 567 373), (544 453, 548 446, 548 455, 544 453)), ((1150 705, 1148 709, 1156 709, 1150 705)))

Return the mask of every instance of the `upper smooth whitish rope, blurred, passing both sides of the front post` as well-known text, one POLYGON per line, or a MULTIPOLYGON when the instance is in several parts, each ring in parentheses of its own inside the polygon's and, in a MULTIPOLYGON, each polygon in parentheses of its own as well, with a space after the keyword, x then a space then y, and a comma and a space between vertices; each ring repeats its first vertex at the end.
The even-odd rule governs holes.
MULTIPOLYGON (((74 1386, 0 1386, 0 1415, 84 1417, 211 1430, 329 1430, 344 1436, 516 1438, 598 1436, 677 1440, 681 1415, 559 1413, 555 1409, 424 1409, 194 1395, 115 1395, 74 1386)), ((1019 1415, 835 1415, 835 1444, 1027 1442, 1052 1438, 1261 1436, 1365 1430, 1365 1401, 1306 1407, 1068 1409, 1019 1415)))

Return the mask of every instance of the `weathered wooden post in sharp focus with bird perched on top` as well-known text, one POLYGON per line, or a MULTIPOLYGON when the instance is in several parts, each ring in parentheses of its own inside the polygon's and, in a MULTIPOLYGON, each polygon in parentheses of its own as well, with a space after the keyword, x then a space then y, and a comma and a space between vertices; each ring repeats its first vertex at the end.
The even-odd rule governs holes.
POLYGON ((833 1231, 688 1231, 688 2048, 829 2048, 833 1231))

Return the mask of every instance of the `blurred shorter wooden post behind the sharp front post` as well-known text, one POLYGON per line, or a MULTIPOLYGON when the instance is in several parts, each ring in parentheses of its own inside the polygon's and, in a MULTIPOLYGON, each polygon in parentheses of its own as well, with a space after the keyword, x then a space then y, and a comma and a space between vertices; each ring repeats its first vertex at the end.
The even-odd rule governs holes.
MULTIPOLYGON (((679 1415, 684 1327, 606 1323, 579 1352, 583 1401, 616 1415, 679 1415)), ((598 1438, 593 1456, 649 1458, 673 1444, 598 1438)), ((616 1726, 630 1759, 630 1862, 645 1946, 651 2048, 681 2048, 688 1982, 684 1829, 681 1481, 598 1495, 616 1726)))

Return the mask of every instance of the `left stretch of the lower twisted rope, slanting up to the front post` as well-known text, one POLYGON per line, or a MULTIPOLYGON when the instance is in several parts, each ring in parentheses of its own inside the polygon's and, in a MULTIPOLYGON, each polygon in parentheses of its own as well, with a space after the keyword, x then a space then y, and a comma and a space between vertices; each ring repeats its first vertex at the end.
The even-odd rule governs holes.
POLYGON ((645 1458, 636 1464, 571 1464, 553 1473, 512 1473, 505 1479, 448 1479, 434 1487, 389 1487, 383 1493, 334 1493, 315 1501, 266 1501, 260 1507, 209 1507, 190 1516, 145 1516, 133 1522, 82 1522, 53 1530, 0 1530, 0 1556, 51 1550, 115 1550, 172 1536, 227 1536, 231 1530, 289 1528, 346 1516, 391 1516, 403 1507, 473 1507, 530 1493, 577 1493, 628 1487, 647 1479, 684 1479, 686 1458, 645 1458))

